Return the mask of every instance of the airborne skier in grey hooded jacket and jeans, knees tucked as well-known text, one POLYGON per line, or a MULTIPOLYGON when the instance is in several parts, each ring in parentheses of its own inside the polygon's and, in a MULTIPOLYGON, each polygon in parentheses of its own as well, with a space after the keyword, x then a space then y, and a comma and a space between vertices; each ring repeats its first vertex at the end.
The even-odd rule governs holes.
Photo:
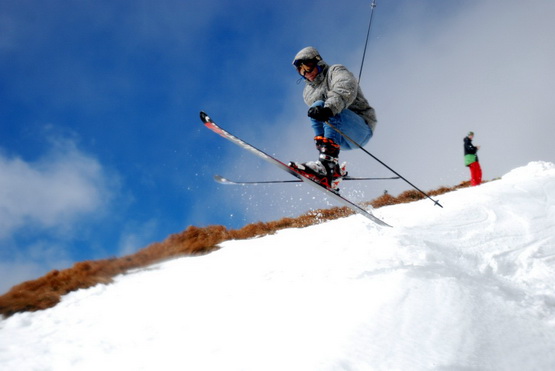
POLYGON ((319 157, 318 161, 291 162, 289 166, 337 191, 339 182, 347 175, 346 164, 339 166, 339 151, 358 147, 327 122, 364 146, 374 134, 376 114, 355 76, 343 65, 328 65, 315 48, 309 46, 299 51, 293 65, 306 83, 303 98, 310 107, 308 117, 319 157))

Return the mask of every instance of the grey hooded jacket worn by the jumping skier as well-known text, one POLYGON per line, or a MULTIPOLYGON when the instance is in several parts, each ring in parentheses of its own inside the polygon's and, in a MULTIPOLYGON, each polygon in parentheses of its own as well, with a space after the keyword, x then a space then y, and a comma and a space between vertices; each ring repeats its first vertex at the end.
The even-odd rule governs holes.
POLYGON ((320 57, 318 50, 311 46, 298 52, 293 62, 303 59, 318 59, 321 69, 314 81, 305 80, 305 103, 311 106, 314 102, 323 100, 324 106, 329 107, 334 115, 345 108, 350 109, 361 116, 374 132, 377 123, 376 113, 362 94, 355 76, 343 65, 328 65, 320 57))

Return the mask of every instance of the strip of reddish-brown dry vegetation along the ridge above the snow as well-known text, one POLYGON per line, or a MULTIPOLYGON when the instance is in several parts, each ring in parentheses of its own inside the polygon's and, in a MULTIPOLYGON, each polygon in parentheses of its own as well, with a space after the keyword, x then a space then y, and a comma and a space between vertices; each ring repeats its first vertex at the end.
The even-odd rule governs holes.
MULTIPOLYGON (((469 186, 462 182, 458 186, 441 187, 428 192, 437 196, 469 186)), ((368 202, 374 208, 417 201, 424 198, 417 191, 410 190, 397 197, 384 194, 368 202)), ((240 240, 272 234, 286 228, 302 228, 327 220, 334 220, 353 214, 346 207, 320 209, 296 218, 283 218, 267 223, 254 223, 240 229, 229 230, 221 225, 204 228, 190 226, 185 231, 170 235, 162 242, 155 242, 134 254, 120 258, 79 262, 64 270, 53 270, 45 276, 26 281, 12 287, 0 296, 0 314, 9 317, 18 312, 37 311, 55 306, 61 296, 71 291, 88 288, 98 283, 110 283, 113 277, 131 269, 147 267, 167 259, 182 256, 207 254, 217 250, 218 244, 227 240, 240 240)))

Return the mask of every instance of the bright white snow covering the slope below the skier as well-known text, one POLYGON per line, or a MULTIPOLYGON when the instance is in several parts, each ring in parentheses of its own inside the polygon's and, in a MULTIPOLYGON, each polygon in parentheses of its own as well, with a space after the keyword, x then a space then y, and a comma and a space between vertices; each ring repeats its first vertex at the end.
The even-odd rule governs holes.
POLYGON ((555 370, 555 165, 181 258, 0 322, 3 370, 555 370))

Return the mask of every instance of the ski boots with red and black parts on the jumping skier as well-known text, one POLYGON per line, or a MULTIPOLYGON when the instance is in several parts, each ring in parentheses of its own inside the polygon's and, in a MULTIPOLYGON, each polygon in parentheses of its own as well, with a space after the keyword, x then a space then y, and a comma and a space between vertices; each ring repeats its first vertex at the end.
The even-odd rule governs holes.
POLYGON ((339 193, 339 183, 347 175, 347 164, 343 163, 339 166, 340 147, 332 139, 324 137, 316 137, 314 141, 320 152, 318 161, 290 162, 289 166, 321 186, 339 193))

